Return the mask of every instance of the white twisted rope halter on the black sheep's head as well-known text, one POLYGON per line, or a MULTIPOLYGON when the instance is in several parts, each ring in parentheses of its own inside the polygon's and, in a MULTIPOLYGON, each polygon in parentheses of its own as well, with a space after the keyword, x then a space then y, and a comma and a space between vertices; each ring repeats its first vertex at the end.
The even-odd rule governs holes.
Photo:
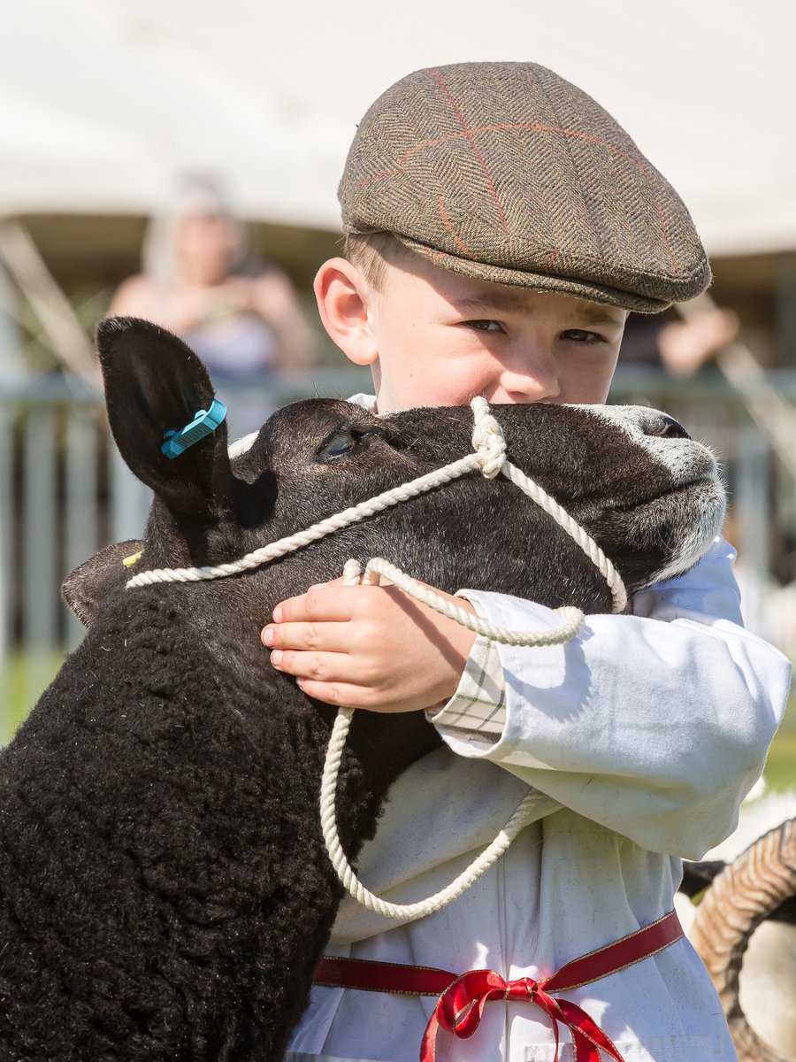
MULTIPOLYGON (((474 418, 472 432, 474 452, 468 453, 467 457, 461 458, 458 461, 454 461, 425 476, 419 476, 409 483, 403 483, 400 486, 385 491, 366 501, 361 501, 357 506, 344 509, 333 516, 313 524, 304 531, 297 531, 295 534, 279 538, 277 542, 263 546, 261 549, 256 549, 252 553, 246 553, 245 556, 240 558, 238 561, 201 568, 155 568, 151 571, 142 571, 140 575, 134 576, 127 582, 127 588, 150 586, 154 583, 186 583, 198 582, 205 579, 223 579, 227 576, 239 575, 242 571, 249 571, 252 568, 269 564, 279 556, 284 556, 287 553, 300 549, 302 546, 317 542, 318 538, 323 538, 325 535, 332 534, 334 531, 340 531, 351 524, 357 524, 368 516, 373 516, 375 513, 382 512, 384 509, 388 509, 400 501, 408 501, 419 494, 425 494, 427 491, 458 479, 469 472, 480 469, 482 475, 487 479, 494 479, 502 473, 533 501, 540 506, 544 512, 549 513, 600 569, 611 592, 613 612, 622 612, 627 602, 627 594, 619 572, 611 562, 588 532, 547 491, 506 459, 506 443, 503 432, 496 418, 491 415, 486 399, 482 397, 473 398, 470 406, 474 418)), ((245 440, 239 440, 230 448, 230 453, 238 456, 244 452, 248 448, 244 444, 248 443, 250 446, 255 438, 255 435, 252 435, 245 440)), ((506 628, 496 627, 487 620, 471 615, 471 613, 458 607, 448 598, 435 593, 422 583, 418 583, 415 579, 401 571, 400 568, 381 558, 373 558, 368 562, 364 576, 360 577, 360 571, 358 561, 348 561, 344 568, 346 583, 348 585, 354 585, 359 582, 373 584, 378 583, 380 576, 384 576, 404 593, 429 605, 431 609, 448 616, 457 623, 462 623, 477 634, 485 635, 494 641, 506 645, 560 645, 574 638, 584 623, 584 615, 579 609, 565 606, 557 610, 561 615, 564 623, 554 631, 535 633, 509 631, 506 628)), ((321 783, 321 827, 332 866, 345 888, 358 903, 386 918, 411 921, 430 914, 432 911, 439 910, 442 907, 450 904, 503 855, 521 829, 529 823, 540 818, 541 815, 549 815, 560 807, 556 801, 535 789, 531 789, 515 808, 505 826, 500 830, 491 844, 484 849, 472 863, 451 881, 450 885, 436 892, 433 896, 414 904, 386 903, 369 892, 358 879, 353 869, 346 859, 340 843, 340 837, 338 836, 335 813, 338 774, 352 717, 353 708, 341 707, 334 720, 331 737, 329 738, 321 783)))

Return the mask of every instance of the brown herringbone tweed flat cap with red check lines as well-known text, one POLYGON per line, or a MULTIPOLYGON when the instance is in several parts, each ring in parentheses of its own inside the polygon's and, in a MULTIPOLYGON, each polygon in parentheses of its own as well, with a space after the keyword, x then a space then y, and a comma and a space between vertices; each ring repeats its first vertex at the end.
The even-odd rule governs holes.
POLYGON ((672 186, 590 96, 535 63, 397 82, 339 188, 346 233, 388 232, 466 276, 653 313, 710 267, 672 186))

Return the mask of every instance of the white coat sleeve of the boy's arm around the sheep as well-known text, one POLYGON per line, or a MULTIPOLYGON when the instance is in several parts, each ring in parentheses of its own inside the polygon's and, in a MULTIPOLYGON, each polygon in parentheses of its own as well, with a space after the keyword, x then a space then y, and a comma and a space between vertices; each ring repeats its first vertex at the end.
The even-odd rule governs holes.
MULTIPOLYGON (((733 559, 719 538, 636 595, 633 615, 588 616, 564 646, 500 646, 502 734, 472 742, 439 726, 444 740, 645 849, 700 858, 734 828, 790 688, 789 661, 741 626, 733 559)), ((503 627, 560 623, 533 602, 463 593, 503 627)))

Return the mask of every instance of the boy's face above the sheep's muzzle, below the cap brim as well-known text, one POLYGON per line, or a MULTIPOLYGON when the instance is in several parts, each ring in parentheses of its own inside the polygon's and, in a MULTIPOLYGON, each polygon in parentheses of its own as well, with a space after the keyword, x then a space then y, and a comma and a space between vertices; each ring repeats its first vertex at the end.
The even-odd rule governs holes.
POLYGON ((427 262, 386 263, 366 285, 380 412, 413 406, 602 402, 625 310, 489 284, 427 262))

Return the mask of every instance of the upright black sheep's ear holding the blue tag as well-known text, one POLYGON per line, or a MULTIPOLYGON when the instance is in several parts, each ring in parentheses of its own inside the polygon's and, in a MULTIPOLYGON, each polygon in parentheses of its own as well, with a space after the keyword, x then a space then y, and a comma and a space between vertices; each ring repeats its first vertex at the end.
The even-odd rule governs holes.
POLYGON ((176 336, 135 318, 103 321, 97 349, 110 430, 127 465, 175 515, 218 520, 232 506, 226 424, 176 458, 161 451, 166 432, 210 408, 202 361, 176 336))

